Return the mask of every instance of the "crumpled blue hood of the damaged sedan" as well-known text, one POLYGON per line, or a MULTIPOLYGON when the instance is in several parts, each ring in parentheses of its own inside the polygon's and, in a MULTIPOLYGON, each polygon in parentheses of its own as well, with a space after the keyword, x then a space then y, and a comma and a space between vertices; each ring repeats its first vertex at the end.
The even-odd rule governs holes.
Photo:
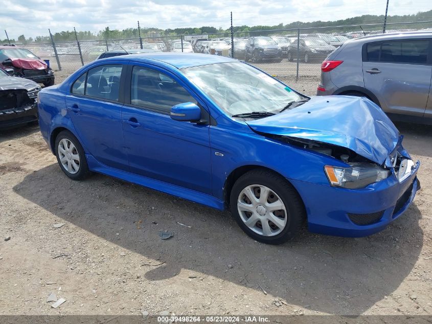
POLYGON ((384 112, 369 99, 360 97, 312 97, 281 114, 246 123, 260 133, 347 147, 380 165, 399 139, 397 128, 384 112))

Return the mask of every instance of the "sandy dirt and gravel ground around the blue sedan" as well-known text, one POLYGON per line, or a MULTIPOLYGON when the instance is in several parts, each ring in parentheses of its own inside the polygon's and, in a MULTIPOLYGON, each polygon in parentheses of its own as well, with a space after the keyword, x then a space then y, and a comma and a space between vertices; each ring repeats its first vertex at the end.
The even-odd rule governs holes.
POLYGON ((0 314, 431 314, 432 134, 397 126, 422 162, 410 209, 370 237, 305 228, 282 246, 249 239, 228 212, 69 180, 37 126, 0 133, 0 314), (51 308, 51 292, 66 302, 51 308))

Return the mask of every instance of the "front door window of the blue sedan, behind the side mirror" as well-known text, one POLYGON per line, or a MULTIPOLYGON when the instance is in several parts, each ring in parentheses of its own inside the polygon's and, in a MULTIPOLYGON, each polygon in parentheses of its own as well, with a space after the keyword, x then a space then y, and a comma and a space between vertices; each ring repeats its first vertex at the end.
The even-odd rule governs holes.
POLYGON ((169 76, 156 70, 133 67, 130 103, 150 110, 169 113, 171 107, 197 101, 189 92, 169 76))

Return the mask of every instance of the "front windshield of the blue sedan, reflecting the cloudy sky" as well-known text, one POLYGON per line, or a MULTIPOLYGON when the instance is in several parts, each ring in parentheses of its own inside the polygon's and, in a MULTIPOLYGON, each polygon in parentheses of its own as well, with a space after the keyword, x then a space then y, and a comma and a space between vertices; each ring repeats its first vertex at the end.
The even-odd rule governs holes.
POLYGON ((228 115, 278 113, 302 97, 278 80, 242 62, 181 70, 228 115))

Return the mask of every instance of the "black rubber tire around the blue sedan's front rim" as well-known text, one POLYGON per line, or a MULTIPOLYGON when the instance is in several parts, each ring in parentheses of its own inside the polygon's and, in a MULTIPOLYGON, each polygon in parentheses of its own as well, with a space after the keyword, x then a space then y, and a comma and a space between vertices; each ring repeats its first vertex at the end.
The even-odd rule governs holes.
POLYGON ((237 179, 231 190, 230 205, 231 213, 240 228, 254 240, 266 244, 282 244, 291 240, 299 233, 302 224, 306 219, 303 201, 297 190, 295 190, 294 187, 284 178, 266 169, 254 169, 248 171, 237 179), (276 193, 276 195, 282 200, 287 211, 285 214, 287 221, 285 227, 279 234, 274 236, 265 236, 256 233, 241 219, 237 208, 237 202, 242 190, 251 185, 266 186, 276 193))

